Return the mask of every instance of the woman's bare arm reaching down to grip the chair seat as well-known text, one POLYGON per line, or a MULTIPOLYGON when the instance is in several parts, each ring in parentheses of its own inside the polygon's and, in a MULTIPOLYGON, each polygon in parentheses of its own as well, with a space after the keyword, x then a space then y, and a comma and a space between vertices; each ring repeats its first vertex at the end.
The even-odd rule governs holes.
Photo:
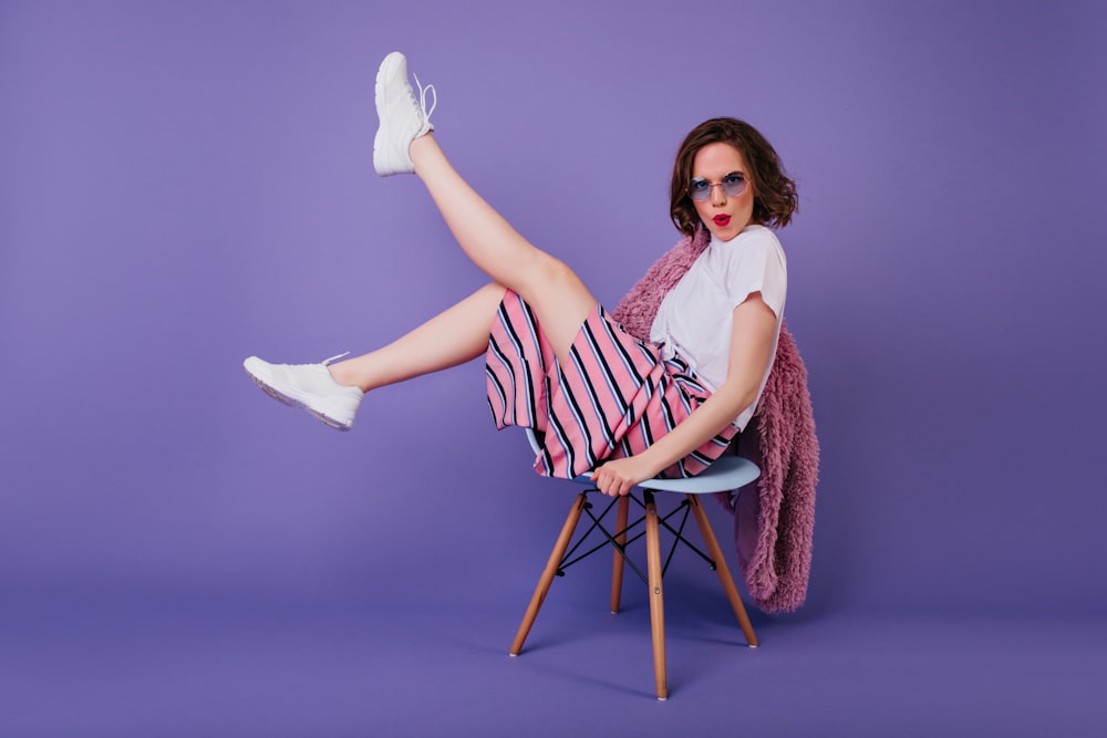
POLYGON ((635 456, 614 459, 592 472, 604 495, 627 495, 631 487, 651 479, 734 420, 757 396, 765 367, 772 358, 776 315, 761 292, 753 292, 734 309, 731 355, 726 381, 683 423, 635 456))

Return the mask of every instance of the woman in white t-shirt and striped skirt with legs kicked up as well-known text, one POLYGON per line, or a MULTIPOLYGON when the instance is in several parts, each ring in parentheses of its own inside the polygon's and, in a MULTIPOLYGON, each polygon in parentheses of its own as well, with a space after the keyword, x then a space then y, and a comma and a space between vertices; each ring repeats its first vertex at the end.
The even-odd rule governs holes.
POLYGON ((600 491, 615 496, 658 475, 706 468, 753 415, 780 331, 787 268, 767 226, 786 226, 797 200, 776 152, 733 118, 687 135, 673 167, 671 215, 685 236, 706 229, 711 245, 642 343, 454 170, 431 135, 427 92, 420 87, 416 97, 403 54, 385 58, 374 166, 381 175, 417 175, 493 282, 377 351, 299 365, 251 356, 247 372, 277 399, 348 429, 365 392, 486 354, 496 423, 538 432, 539 472, 590 471, 600 491))

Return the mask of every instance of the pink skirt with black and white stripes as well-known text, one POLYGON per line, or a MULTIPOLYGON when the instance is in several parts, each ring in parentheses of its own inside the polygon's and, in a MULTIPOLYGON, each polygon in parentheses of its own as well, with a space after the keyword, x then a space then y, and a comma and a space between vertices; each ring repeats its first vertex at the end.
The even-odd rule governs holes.
MULTIPOLYGON (((658 346, 623 331, 599 305, 563 365, 534 311, 510 290, 493 321, 485 362, 496 426, 534 428, 542 444, 535 470, 548 477, 571 479, 607 459, 640 454, 711 396, 683 358, 662 358, 658 346)), ((662 476, 699 474, 736 433, 727 425, 662 476)))

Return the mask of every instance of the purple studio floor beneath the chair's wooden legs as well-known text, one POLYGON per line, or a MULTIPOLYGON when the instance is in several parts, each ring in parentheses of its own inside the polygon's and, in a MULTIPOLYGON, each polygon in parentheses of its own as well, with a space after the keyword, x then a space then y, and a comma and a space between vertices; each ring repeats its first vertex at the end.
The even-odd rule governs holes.
POLYGON ((28 590, 0 616, 0 736, 1107 735, 1100 623, 754 613, 751 649, 717 582, 670 576, 661 703, 644 590, 613 616, 598 582, 556 580, 517 658, 523 578, 422 602, 28 590))

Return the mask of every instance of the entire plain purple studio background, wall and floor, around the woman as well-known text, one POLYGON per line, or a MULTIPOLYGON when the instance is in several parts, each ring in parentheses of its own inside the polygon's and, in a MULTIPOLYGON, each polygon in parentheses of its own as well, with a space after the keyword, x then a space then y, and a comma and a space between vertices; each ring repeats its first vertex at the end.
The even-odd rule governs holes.
POLYGON ((1107 730, 1107 7, 615 4, 0 0, 0 735, 1107 730), (695 123, 751 121, 799 185, 810 596, 749 652, 682 560, 664 705, 603 563, 506 657, 573 490, 494 430, 479 363, 344 435, 240 368, 482 283, 373 175, 392 49, 609 305, 676 240, 695 123))

